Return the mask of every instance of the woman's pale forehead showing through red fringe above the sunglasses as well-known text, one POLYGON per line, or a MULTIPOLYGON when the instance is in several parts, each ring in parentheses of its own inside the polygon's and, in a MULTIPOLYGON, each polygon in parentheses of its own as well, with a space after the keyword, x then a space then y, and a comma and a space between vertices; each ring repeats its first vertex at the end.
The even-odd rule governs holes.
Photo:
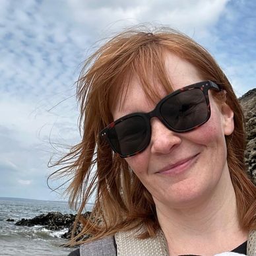
POLYGON ((148 86, 145 86, 139 74, 130 75, 123 80, 121 90, 113 103, 114 119, 128 113, 148 112, 170 92, 203 80, 195 66, 174 53, 164 54, 164 66, 168 86, 162 84, 160 78, 152 75, 153 72, 150 70, 147 71, 148 86), (156 97, 150 97, 152 94, 156 94, 156 97))

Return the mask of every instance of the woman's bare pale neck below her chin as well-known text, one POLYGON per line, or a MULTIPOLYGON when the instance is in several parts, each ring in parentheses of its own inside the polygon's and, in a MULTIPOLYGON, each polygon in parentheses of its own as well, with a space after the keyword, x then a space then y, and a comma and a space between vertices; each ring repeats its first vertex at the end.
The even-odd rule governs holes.
POLYGON ((231 251, 247 240, 247 232, 239 224, 232 182, 228 179, 222 185, 224 189, 217 187, 210 197, 188 207, 172 208, 156 202, 170 255, 213 255, 231 251))

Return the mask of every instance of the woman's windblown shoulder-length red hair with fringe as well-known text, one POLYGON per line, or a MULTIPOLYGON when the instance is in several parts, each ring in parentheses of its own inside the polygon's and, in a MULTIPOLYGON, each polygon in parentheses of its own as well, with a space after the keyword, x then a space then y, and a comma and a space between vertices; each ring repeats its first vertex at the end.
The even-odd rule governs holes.
POLYGON ((204 79, 212 80, 226 90, 226 97, 222 93, 215 97, 220 104, 226 102, 234 112, 234 133, 226 136, 226 144, 238 216, 242 228, 256 228, 255 185, 247 177, 243 156, 243 112, 230 82, 210 53, 188 36, 166 28, 154 32, 137 28, 118 34, 89 57, 77 82, 82 141, 56 163, 64 164, 59 170, 60 175, 72 176, 67 191, 71 205, 78 208, 77 222, 80 218, 84 224, 82 232, 73 237, 71 244, 84 234, 92 234, 90 240, 96 240, 144 224, 146 232, 142 238, 146 238, 154 236, 159 228, 152 196, 99 133, 113 121, 113 100, 123 92, 123 81, 129 75, 141 79, 144 92, 152 100, 157 95, 148 80, 148 70, 166 90, 172 90, 164 65, 165 51, 189 61, 204 79), (85 220, 80 214, 94 192, 95 205, 91 217, 85 220))

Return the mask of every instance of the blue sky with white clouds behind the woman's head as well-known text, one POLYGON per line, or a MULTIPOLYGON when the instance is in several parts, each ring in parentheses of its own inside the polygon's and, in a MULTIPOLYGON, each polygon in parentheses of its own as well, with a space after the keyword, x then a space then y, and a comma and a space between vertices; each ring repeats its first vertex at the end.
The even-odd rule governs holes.
POLYGON ((255 13, 253 0, 0 0, 0 197, 63 199, 46 185, 48 161, 61 154, 53 143, 80 139, 73 84, 99 40, 171 26, 203 44, 241 96, 255 88, 255 13))

